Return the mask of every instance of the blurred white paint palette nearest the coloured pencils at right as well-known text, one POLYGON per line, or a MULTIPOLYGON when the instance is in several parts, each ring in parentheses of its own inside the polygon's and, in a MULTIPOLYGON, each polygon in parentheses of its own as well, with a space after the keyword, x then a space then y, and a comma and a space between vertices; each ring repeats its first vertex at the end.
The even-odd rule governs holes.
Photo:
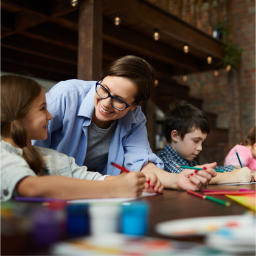
POLYGON ((250 215, 228 215, 165 221, 156 225, 156 232, 168 237, 206 235, 223 227, 244 227, 254 223, 250 215))

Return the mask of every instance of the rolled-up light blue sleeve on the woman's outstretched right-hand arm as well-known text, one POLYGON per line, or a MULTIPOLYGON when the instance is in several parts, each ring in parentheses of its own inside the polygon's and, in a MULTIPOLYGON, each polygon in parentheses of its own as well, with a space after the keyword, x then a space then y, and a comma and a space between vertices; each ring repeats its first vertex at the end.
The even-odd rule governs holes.
POLYGON ((145 126, 146 117, 141 110, 137 114, 139 114, 140 122, 136 123, 131 129, 123 145, 123 164, 131 171, 140 171, 148 162, 153 162, 156 167, 164 169, 163 162, 150 148, 147 128, 145 126))

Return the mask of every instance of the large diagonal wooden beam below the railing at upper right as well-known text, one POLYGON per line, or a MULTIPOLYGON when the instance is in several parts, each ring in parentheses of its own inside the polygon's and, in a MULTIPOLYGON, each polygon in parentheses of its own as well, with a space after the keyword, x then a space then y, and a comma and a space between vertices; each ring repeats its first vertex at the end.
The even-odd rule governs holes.
POLYGON ((142 0, 125 2, 104 0, 104 13, 109 15, 110 18, 110 16, 114 16, 115 12, 119 12, 124 19, 130 18, 134 27, 136 24, 137 27, 143 24, 144 27, 150 28, 152 31, 157 28, 160 33, 173 38, 173 40, 187 43, 212 57, 220 58, 221 60, 224 58, 224 49, 221 48, 220 41, 148 2, 142 0))

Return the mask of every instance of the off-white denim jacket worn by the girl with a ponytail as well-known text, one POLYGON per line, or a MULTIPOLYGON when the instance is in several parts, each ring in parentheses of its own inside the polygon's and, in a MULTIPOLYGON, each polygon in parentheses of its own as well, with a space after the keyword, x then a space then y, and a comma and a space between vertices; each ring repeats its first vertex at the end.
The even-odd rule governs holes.
MULTIPOLYGON (((74 157, 58 153, 49 148, 33 146, 33 150, 41 154, 44 161, 42 175, 66 176, 77 179, 103 181, 106 176, 100 173, 87 171, 86 166, 75 164, 74 157)), ((3 140, 0 142, 0 202, 7 201, 13 195, 18 195, 16 184, 26 176, 36 176, 29 164, 22 158, 22 150, 3 140)))

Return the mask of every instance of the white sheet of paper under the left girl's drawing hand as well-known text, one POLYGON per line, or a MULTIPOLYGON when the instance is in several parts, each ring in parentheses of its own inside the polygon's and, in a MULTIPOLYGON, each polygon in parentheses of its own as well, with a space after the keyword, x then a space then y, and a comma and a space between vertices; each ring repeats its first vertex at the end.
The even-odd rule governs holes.
POLYGON ((95 203, 120 203, 120 202, 128 202, 134 201, 140 198, 145 198, 147 196, 155 196, 157 193, 147 193, 142 192, 142 195, 137 198, 95 198, 95 199, 77 199, 67 201, 69 204, 95 204, 95 203))

